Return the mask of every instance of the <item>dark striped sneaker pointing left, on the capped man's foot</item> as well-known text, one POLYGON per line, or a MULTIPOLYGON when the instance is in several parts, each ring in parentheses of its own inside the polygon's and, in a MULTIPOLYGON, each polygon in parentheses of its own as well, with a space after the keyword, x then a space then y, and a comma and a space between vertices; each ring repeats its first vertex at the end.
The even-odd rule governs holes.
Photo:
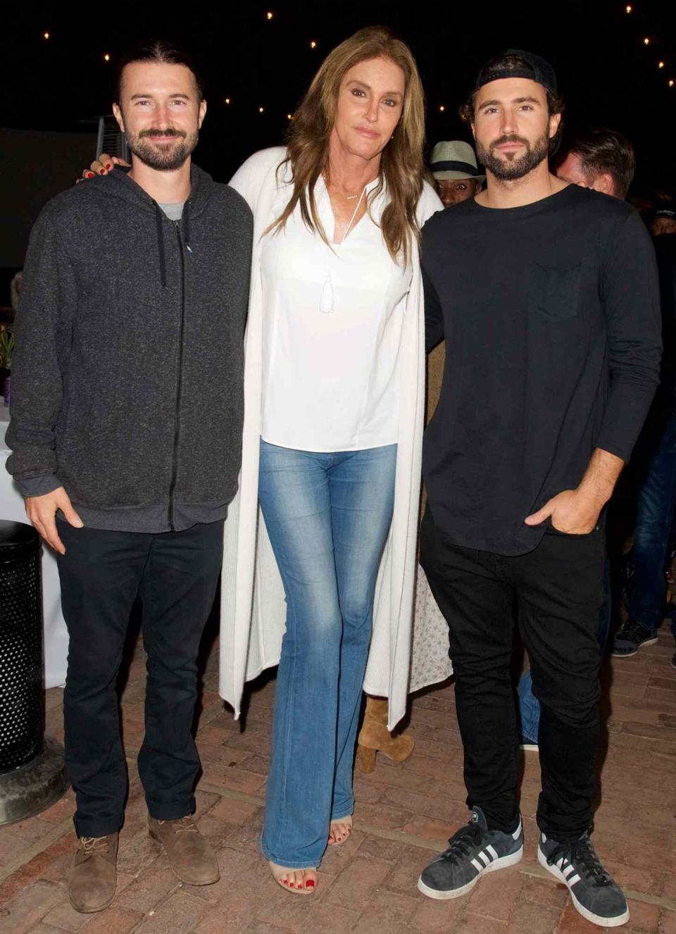
POLYGON ((489 830, 481 808, 472 809, 470 823, 448 841, 448 849, 436 856, 418 879, 418 891, 430 899, 459 899, 486 872, 514 866, 524 855, 524 832, 489 830))

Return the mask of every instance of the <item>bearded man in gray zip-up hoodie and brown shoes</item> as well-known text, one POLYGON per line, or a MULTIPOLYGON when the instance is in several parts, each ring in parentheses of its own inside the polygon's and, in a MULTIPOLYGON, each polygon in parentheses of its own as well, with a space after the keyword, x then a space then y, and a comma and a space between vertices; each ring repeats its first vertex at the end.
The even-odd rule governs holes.
POLYGON ((191 817, 191 727, 240 466, 253 230, 240 195, 190 164, 206 104, 184 53, 157 42, 127 56, 117 101, 131 171, 64 192, 35 224, 7 431, 7 469, 58 553, 80 912, 115 894, 128 788, 115 685, 137 596, 149 832, 184 882, 218 880, 191 817))

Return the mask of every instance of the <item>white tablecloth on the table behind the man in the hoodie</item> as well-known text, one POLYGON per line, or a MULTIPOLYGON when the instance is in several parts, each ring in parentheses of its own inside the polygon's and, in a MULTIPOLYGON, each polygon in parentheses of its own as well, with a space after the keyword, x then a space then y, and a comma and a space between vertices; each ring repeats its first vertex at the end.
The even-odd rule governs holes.
MULTIPOLYGON (((9 449, 5 432, 9 409, 0 395, 0 519, 28 522, 21 493, 7 474, 5 463, 9 449)), ((56 559, 49 545, 42 548, 42 608, 45 631, 45 686, 62 687, 65 684, 65 664, 68 655, 68 632, 61 613, 61 588, 56 559)))

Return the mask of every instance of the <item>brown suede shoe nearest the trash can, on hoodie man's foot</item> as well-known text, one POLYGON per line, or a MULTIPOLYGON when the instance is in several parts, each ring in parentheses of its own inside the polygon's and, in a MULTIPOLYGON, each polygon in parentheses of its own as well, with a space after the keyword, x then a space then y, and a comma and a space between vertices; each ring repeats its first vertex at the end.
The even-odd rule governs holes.
POLYGON ((80 837, 68 877, 68 897, 76 912, 102 912, 115 898, 117 858, 117 833, 107 837, 80 837))

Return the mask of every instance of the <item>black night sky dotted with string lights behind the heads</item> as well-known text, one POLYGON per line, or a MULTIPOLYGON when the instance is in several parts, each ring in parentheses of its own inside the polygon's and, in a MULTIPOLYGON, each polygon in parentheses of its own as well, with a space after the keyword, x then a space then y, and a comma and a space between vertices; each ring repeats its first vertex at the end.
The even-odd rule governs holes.
MULTIPOLYGON (((458 104, 472 75, 494 51, 514 46, 554 64, 569 128, 606 124, 632 139, 639 157, 635 190, 673 189, 676 85, 669 89, 668 82, 676 80, 676 3, 637 0, 629 15, 626 6, 612 0, 270 6, 234 0, 92 7, 15 0, 0 33, 0 127, 93 130, 80 121, 110 112, 116 56, 144 36, 175 38, 192 51, 206 82, 209 110, 196 161, 226 181, 251 152, 283 141, 287 114, 329 50, 360 26, 384 23, 414 51, 427 95, 430 146, 469 139, 458 104)), ((2 160, 0 153, 0 178, 2 160)), ((83 167, 73 165, 72 177, 83 167)))

